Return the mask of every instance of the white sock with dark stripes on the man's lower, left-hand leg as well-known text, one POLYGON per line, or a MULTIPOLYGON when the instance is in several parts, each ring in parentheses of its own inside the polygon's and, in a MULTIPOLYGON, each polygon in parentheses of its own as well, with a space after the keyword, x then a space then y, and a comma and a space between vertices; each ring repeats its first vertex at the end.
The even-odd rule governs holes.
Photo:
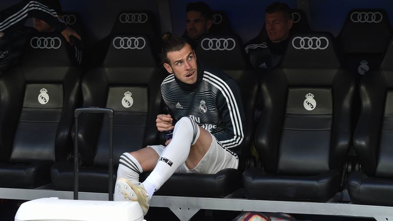
MULTIPOLYGON (((131 154, 125 152, 121 154, 119 168, 117 169, 117 179, 125 178, 132 182, 139 182, 139 175, 143 172, 142 166, 131 154)), ((125 200, 124 195, 119 194, 115 185, 114 201, 125 200)))

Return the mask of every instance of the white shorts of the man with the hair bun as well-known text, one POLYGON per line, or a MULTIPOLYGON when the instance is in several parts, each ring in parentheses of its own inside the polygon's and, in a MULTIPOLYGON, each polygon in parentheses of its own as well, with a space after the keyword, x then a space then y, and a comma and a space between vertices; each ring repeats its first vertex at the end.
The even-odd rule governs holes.
MULTIPOLYGON (((195 168, 188 169, 184 163, 175 172, 214 174, 226 168, 237 169, 239 165, 239 158, 237 157, 237 154, 223 147, 220 141, 217 141, 213 135, 211 135, 211 137, 213 138, 213 141, 211 142, 209 150, 195 168)), ((156 150, 160 157, 165 149, 165 146, 163 145, 152 145, 149 147, 156 150)))

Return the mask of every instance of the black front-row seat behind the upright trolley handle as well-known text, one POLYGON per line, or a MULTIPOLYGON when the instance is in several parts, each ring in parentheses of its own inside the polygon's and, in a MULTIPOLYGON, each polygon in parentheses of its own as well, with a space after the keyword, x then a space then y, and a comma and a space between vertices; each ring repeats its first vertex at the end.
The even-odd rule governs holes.
MULTIPOLYGON (((160 85, 166 77, 143 35, 114 35, 102 67, 85 74, 82 80, 83 106, 114 110, 114 165, 120 155, 157 144, 156 118, 160 114, 160 85)), ((81 166, 79 190, 108 191, 108 118, 101 114, 79 117, 78 148, 81 166)), ((51 168, 58 190, 73 190, 73 162, 51 168)), ((116 170, 114 172, 114 183, 116 170)))

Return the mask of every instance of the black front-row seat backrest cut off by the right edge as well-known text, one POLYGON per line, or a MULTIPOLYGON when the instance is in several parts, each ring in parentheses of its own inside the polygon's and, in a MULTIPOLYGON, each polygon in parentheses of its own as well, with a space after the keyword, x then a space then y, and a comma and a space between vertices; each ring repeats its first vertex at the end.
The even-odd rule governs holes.
POLYGON ((354 148, 362 169, 369 176, 393 178, 393 39, 380 69, 360 83, 361 113, 354 134, 354 148))

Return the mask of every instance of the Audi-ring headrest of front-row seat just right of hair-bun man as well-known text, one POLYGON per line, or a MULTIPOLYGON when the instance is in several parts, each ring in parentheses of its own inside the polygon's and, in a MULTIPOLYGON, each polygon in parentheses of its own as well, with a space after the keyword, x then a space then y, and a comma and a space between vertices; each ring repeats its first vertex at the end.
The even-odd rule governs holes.
POLYGON ((288 42, 281 61, 282 68, 332 69, 339 68, 333 36, 330 33, 295 34, 288 42))

